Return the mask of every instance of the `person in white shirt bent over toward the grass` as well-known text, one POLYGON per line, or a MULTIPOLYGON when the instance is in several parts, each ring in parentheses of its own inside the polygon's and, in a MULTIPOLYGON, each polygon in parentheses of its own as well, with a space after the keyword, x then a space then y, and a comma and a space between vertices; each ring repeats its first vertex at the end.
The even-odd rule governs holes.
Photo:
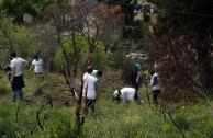
POLYGON ((117 101, 121 101, 121 100, 124 100, 124 101, 133 101, 135 100, 134 96, 135 96, 135 88, 123 88, 123 89, 117 89, 114 91, 113 93, 113 100, 117 100, 117 101))

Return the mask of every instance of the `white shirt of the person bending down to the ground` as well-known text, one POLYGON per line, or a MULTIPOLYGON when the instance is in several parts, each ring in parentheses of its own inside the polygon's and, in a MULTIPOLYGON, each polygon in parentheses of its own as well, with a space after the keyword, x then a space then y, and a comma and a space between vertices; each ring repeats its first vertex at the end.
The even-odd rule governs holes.
MULTIPOLYGON (((117 95, 119 91, 114 91, 113 96, 117 95)), ((121 99, 126 101, 134 100, 135 89, 134 88, 123 88, 121 89, 121 99)))

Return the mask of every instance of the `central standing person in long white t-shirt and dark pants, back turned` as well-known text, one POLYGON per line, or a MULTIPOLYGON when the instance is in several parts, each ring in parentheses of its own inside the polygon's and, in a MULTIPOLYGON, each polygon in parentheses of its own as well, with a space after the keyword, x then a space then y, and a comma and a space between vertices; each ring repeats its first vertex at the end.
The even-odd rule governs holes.
POLYGON ((89 107, 91 113, 94 113, 94 105, 97 100, 98 91, 98 79, 92 76, 93 68, 92 66, 87 67, 87 72, 83 74, 83 91, 82 97, 86 101, 85 114, 88 114, 89 107))

